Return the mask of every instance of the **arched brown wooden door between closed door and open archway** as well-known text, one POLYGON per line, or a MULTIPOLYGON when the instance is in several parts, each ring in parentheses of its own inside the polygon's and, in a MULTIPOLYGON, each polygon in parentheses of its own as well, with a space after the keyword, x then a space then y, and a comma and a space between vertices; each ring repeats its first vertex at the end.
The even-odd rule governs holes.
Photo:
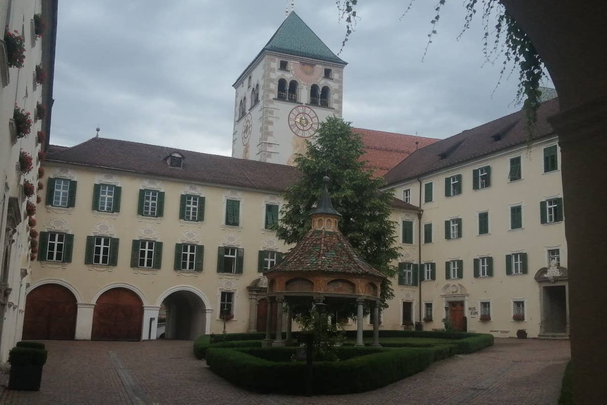
POLYGON ((127 288, 107 290, 93 311, 92 340, 140 341, 143 303, 127 288))

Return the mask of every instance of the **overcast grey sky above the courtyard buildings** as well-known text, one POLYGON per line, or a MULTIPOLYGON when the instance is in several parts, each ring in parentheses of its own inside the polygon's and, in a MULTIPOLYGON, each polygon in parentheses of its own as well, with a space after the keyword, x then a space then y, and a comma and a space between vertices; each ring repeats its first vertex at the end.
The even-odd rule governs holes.
MULTIPOLYGON (((50 141, 95 135, 229 155, 231 84, 284 19, 287 0, 61 0, 50 141)), ((341 58, 344 119, 359 128, 445 138, 520 109, 518 73, 495 93, 480 15, 463 38, 461 2, 448 1, 424 62, 434 2, 359 0, 341 58)), ((297 0, 297 14, 336 52, 333 0, 297 0)), ((495 23, 493 23, 495 25, 495 23)), ((546 83, 551 86, 551 83, 546 83)))

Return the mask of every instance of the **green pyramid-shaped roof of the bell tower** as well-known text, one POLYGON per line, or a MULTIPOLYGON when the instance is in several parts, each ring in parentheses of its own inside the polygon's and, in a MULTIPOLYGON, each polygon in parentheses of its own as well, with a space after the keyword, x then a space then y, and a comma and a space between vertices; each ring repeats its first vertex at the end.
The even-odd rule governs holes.
POLYGON ((263 50, 346 64, 318 38, 295 12, 291 12, 285 18, 263 50))

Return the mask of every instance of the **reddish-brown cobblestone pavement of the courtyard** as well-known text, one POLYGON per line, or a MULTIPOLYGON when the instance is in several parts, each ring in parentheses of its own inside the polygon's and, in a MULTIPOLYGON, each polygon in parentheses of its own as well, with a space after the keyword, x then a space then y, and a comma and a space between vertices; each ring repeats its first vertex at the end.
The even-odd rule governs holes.
POLYGON ((568 341, 495 339, 378 390, 306 398, 232 386, 192 356, 189 341, 49 341, 47 349, 41 390, 4 390, 0 405, 555 405, 570 356, 568 341))

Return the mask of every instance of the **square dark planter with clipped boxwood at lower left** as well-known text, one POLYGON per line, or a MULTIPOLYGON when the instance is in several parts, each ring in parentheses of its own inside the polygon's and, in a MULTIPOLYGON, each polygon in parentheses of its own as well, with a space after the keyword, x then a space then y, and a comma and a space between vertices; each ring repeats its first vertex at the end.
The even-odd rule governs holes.
POLYGON ((47 351, 44 349, 44 344, 18 342, 8 352, 8 362, 10 362, 8 389, 38 391, 46 358, 47 351))

